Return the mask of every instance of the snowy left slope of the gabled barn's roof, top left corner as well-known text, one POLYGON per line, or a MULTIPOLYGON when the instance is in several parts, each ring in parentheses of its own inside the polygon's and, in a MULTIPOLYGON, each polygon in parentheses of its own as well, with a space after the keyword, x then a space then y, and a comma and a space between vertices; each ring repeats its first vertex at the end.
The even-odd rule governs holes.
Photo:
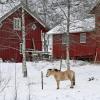
POLYGON ((11 11, 12 9, 14 9, 14 7, 16 7, 17 5, 20 4, 20 1, 16 0, 14 2, 9 2, 9 3, 5 3, 5 4, 0 4, 0 18, 2 16, 4 16, 6 13, 8 13, 9 11, 11 11))

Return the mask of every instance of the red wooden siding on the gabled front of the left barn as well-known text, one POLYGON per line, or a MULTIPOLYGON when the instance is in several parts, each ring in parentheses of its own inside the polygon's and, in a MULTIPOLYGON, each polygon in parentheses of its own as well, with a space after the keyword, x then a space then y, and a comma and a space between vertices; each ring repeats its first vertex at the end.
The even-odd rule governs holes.
MULTIPOLYGON (((14 59, 17 62, 19 62, 22 61, 22 55, 19 52, 20 43, 22 42, 22 33, 21 31, 13 30, 14 17, 21 18, 21 8, 2 22, 3 26, 2 28, 0 28, 0 58, 2 58, 3 60, 14 59)), ((45 32, 46 29, 26 11, 25 11, 25 27, 26 27, 26 48, 34 49, 32 41, 32 39, 34 39, 36 50, 42 50, 41 30, 45 32), (36 25, 36 30, 32 29, 33 23, 35 23, 36 25)))

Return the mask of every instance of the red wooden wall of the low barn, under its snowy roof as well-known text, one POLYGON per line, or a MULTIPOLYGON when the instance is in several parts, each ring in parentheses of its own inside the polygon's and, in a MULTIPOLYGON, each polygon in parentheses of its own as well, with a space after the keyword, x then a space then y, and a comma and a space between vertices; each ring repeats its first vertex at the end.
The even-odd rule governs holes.
MULTIPOLYGON (((80 43, 80 33, 70 33, 70 57, 95 56, 96 41, 92 32, 86 33, 86 43, 80 43)), ((66 58, 66 46, 62 44, 62 34, 53 35, 53 57, 66 58)))

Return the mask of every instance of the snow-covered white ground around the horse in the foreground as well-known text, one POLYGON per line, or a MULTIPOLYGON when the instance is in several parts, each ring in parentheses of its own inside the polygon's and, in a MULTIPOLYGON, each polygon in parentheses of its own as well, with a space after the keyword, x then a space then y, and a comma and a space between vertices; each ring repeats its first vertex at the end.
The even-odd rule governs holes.
MULTIPOLYGON (((99 64, 71 61, 71 69, 76 72, 75 88, 70 89, 70 82, 63 81, 59 90, 56 89, 54 78, 47 78, 45 74, 48 68, 59 69, 60 61, 28 62, 28 78, 22 77, 21 66, 20 63, 0 63, 0 100, 100 100, 99 64), (44 73, 43 90, 41 89, 41 71, 44 73), (94 77, 94 80, 89 81, 91 77, 94 77), (15 89, 17 96, 15 96, 15 89)), ((62 70, 65 69, 63 61, 62 70)))

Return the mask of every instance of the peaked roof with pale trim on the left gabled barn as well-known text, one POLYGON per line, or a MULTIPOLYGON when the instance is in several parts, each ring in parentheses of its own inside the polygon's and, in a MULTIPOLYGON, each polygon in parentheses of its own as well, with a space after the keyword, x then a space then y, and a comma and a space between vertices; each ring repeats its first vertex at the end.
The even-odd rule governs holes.
MULTIPOLYGON (((7 6, 8 6, 8 4, 5 4, 5 6, 3 6, 5 10, 3 11, 4 13, 0 13, 0 22, 2 22, 3 20, 5 20, 7 17, 9 17, 11 14, 13 14, 19 8, 23 7, 23 9, 26 12, 28 12, 33 18, 35 18, 44 28, 47 27, 45 25, 45 23, 42 22, 42 20, 38 17, 38 15, 36 14, 36 11, 32 12, 28 7, 26 7, 25 4, 23 4, 21 2, 17 2, 14 5, 11 5, 11 3, 10 3, 10 8, 8 6, 9 9, 6 8, 7 6)), ((2 8, 2 6, 0 4, 0 9, 1 8, 2 8)))

